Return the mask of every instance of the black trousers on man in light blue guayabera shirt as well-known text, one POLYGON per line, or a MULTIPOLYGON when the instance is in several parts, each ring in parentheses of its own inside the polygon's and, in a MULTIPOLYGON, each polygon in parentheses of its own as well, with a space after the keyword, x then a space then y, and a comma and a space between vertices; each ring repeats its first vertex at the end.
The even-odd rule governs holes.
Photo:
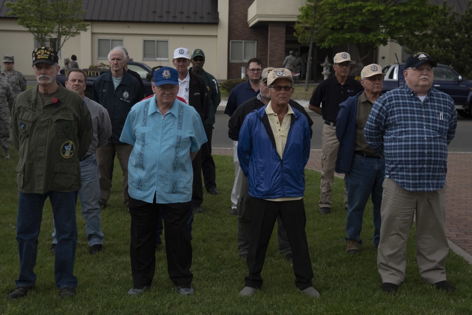
POLYGON ((191 203, 152 204, 129 197, 131 243, 129 255, 135 287, 151 285, 156 269, 156 237, 159 210, 164 219, 167 270, 176 286, 193 279, 192 244, 187 221, 191 203))

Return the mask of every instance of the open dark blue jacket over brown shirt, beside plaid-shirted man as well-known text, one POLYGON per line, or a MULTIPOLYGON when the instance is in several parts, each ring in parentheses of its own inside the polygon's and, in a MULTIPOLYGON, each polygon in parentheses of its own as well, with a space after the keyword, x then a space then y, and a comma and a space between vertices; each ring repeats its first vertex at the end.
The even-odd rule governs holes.
POLYGON ((336 118, 336 137, 339 141, 337 150, 336 172, 349 174, 355 148, 355 119, 357 116, 357 98, 364 92, 349 97, 339 104, 336 118))

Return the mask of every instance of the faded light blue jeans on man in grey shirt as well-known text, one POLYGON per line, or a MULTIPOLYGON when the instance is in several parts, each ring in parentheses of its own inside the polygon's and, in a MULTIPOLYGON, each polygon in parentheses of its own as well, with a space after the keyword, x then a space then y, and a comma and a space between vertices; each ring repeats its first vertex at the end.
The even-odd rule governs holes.
MULTIPOLYGON (((103 244, 103 232, 100 227, 100 180, 95 153, 80 162, 80 175, 82 186, 79 198, 85 220, 85 236, 89 246, 103 244)), ((52 243, 57 244, 55 227, 51 236, 52 243)))

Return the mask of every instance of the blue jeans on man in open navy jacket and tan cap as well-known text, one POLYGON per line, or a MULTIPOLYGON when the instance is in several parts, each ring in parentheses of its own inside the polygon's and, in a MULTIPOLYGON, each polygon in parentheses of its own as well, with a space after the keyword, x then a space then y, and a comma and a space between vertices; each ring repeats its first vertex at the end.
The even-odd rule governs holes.
POLYGON ((385 160, 364 158, 354 154, 351 171, 346 174, 347 220, 345 240, 357 239, 362 244, 362 218, 364 208, 372 195, 374 213, 374 245, 380 240, 380 205, 382 204, 382 183, 385 177, 385 160))

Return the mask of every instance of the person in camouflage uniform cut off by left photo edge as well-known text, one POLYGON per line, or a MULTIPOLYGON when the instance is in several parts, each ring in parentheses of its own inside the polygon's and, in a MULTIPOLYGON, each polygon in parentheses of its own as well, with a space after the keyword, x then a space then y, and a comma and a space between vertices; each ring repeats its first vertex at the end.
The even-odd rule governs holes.
POLYGON ((10 110, 17 96, 11 86, 0 77, 0 144, 3 149, 3 157, 10 158, 10 110))

